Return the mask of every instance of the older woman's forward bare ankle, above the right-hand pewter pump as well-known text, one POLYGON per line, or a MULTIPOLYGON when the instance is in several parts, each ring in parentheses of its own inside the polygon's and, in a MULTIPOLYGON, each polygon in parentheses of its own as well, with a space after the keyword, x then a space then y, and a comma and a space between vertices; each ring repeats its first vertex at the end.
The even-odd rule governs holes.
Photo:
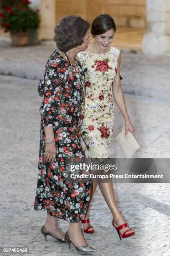
POLYGON ((84 237, 82 236, 80 222, 70 223, 68 234, 75 246, 85 246, 87 244, 84 237))

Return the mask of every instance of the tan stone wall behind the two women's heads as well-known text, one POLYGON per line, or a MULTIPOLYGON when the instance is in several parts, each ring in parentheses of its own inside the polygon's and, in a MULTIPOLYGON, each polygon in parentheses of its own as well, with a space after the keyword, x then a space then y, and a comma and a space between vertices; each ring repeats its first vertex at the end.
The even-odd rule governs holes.
POLYGON ((56 23, 70 15, 80 15, 90 22, 99 14, 108 13, 117 26, 146 27, 146 0, 56 0, 56 23))

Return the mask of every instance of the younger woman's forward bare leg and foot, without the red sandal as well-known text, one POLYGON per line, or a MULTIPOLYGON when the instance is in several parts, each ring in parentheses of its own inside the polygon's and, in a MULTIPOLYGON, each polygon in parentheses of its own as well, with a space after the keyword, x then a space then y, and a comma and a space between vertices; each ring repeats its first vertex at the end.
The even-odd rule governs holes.
MULTIPOLYGON (((112 212, 115 227, 118 227, 119 225, 126 223, 126 220, 123 218, 123 216, 121 215, 121 213, 117 207, 117 203, 115 200, 115 193, 113 190, 113 184, 111 182, 110 183, 99 183, 99 187, 100 187, 103 197, 105 198, 105 201, 107 202, 108 207, 110 208, 110 211, 112 212)), ((128 229, 129 229, 128 227, 122 228, 120 230, 120 233, 122 234, 123 232, 125 232, 128 229)), ((131 232, 132 232, 132 230, 127 232, 127 234, 131 233, 131 232)))

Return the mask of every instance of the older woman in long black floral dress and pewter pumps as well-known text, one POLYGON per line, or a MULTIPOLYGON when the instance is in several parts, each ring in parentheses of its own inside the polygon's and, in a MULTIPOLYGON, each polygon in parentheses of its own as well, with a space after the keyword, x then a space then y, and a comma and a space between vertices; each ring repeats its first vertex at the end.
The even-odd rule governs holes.
POLYGON ((79 125, 85 81, 76 55, 87 49, 89 37, 87 21, 74 15, 62 19, 55 28, 58 49, 48 59, 38 87, 43 100, 35 210, 47 210, 41 230, 45 238, 50 235, 60 242, 68 241, 77 251, 95 251, 80 230, 92 184, 65 182, 65 160, 84 157, 79 125), (58 227, 57 218, 70 223, 66 235, 58 227))

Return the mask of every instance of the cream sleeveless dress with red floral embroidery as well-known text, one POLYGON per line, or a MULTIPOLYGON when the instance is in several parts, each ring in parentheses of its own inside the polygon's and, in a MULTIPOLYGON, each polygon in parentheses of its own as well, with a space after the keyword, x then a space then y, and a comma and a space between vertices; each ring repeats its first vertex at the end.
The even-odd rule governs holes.
POLYGON ((85 73, 85 109, 81 115, 81 144, 87 158, 110 158, 114 122, 112 82, 117 75, 120 50, 111 47, 105 54, 80 52, 85 73))

